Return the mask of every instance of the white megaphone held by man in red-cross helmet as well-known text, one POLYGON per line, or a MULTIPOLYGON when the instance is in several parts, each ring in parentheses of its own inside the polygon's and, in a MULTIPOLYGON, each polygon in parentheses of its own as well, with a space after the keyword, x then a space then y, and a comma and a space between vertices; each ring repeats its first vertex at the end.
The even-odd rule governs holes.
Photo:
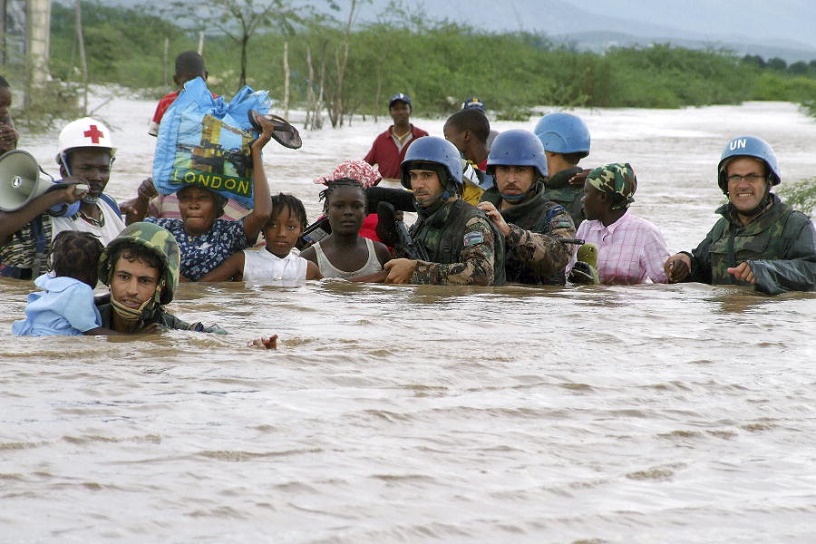
MULTIPOLYGON (((0 211, 19 210, 38 196, 45 194, 55 185, 49 177, 43 177, 31 153, 22 149, 12 149, 0 156, 0 211)), ((87 186, 82 187, 85 191, 87 186)))

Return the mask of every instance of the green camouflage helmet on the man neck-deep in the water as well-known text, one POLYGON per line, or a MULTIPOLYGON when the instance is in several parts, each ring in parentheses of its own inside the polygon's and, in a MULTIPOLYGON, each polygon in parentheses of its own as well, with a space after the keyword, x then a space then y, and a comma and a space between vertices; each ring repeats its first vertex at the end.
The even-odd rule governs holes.
POLYGON ((131 223, 114 238, 102 256, 99 258, 99 279, 105 285, 110 285, 113 265, 111 255, 117 252, 118 246, 125 243, 141 244, 156 255, 162 262, 162 288, 160 304, 168 304, 173 300, 173 294, 178 287, 179 266, 181 253, 178 243, 169 230, 164 229, 155 223, 137 222, 131 223))

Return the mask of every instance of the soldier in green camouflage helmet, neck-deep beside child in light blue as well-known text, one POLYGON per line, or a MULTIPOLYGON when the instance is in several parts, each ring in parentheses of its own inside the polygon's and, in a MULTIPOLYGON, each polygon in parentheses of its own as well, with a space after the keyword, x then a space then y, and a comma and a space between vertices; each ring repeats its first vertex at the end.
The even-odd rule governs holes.
POLYGON ((99 306, 102 326, 124 334, 163 328, 224 333, 218 326, 186 323, 164 311, 178 287, 179 260, 170 231, 144 222, 126 227, 99 259, 99 279, 110 286, 110 302, 99 306))

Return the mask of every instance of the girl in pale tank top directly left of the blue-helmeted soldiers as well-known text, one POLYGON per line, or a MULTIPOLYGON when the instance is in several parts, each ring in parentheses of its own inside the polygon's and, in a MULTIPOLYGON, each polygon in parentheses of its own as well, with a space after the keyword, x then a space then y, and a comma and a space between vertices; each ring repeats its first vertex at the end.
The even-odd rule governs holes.
POLYGON ((391 253, 382 242, 359 235, 366 215, 363 185, 352 178, 328 181, 320 193, 331 234, 306 248, 304 259, 316 264, 325 278, 352 281, 382 281, 379 277, 391 253))

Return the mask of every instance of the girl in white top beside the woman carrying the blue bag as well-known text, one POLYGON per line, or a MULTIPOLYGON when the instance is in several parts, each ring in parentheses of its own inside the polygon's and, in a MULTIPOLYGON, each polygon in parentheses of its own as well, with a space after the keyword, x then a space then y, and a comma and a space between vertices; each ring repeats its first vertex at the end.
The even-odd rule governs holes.
POLYGON ((272 197, 272 218, 263 227, 266 246, 235 253, 199 281, 244 281, 256 285, 293 287, 320 279, 315 263, 292 249, 306 228, 303 202, 283 193, 272 197))

